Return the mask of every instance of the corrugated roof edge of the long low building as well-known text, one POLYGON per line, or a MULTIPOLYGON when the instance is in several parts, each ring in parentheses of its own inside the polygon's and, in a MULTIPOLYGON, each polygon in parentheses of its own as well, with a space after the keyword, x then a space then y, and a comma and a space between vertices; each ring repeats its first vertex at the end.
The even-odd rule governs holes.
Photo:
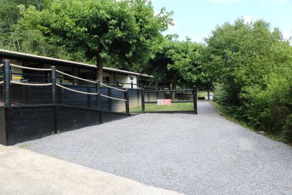
MULTIPOLYGON (((63 59, 54 59, 51 57, 42 57, 42 56, 38 56, 38 55, 34 55, 34 54, 25 54, 25 53, 21 53, 21 52, 12 52, 9 50, 2 50, 0 49, 0 55, 4 55, 5 57, 13 57, 13 56, 18 56, 18 57, 25 57, 25 58, 30 58, 30 59, 37 59, 40 61, 46 61, 48 63, 52 63, 52 64, 56 64, 56 63, 62 63, 62 64, 67 64, 67 65, 78 65, 78 66, 82 66, 84 68, 91 68, 91 69, 96 69, 96 65, 91 65, 88 63, 80 63, 80 62, 76 62, 76 61, 67 61, 67 60, 63 60, 63 59)), ((117 73, 122 73, 122 74, 133 74, 133 75, 137 75, 137 76, 144 76, 144 77, 153 77, 147 74, 140 74, 137 72, 130 72, 130 71, 126 71, 126 70, 118 70, 115 68, 106 68, 104 67, 103 70, 107 70, 107 71, 111 71, 111 72, 117 72, 117 73)))

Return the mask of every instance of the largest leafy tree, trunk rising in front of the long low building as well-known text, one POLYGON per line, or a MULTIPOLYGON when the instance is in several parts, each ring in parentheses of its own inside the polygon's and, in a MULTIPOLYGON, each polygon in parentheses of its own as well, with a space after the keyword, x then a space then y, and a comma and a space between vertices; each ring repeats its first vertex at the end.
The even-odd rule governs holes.
POLYGON ((106 60, 120 68, 148 60, 172 23, 172 12, 161 9, 155 16, 146 0, 54 0, 22 14, 21 23, 41 30, 49 43, 64 45, 77 59, 95 59, 100 81, 106 60))

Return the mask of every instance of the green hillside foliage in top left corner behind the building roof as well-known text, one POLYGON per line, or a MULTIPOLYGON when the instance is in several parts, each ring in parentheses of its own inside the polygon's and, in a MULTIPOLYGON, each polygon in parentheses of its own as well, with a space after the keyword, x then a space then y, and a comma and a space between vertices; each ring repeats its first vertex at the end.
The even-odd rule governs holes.
POLYGON ((68 59, 69 55, 65 50, 47 43, 40 30, 18 23, 21 9, 35 6, 37 10, 42 10, 48 2, 48 0, 0 0, 0 48, 68 59))

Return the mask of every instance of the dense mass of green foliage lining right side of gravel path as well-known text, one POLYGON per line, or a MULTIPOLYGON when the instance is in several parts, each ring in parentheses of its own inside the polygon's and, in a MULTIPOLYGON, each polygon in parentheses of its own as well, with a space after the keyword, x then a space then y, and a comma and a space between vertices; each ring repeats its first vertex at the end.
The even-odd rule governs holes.
POLYGON ((269 23, 218 26, 207 39, 217 100, 258 130, 291 137, 292 48, 269 23))

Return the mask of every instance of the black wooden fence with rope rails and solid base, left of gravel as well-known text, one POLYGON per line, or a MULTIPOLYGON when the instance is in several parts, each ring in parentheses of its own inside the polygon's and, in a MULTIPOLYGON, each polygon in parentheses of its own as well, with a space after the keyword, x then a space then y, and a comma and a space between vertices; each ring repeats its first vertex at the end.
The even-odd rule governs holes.
MULTIPOLYGON (((108 101, 108 105, 113 105, 112 101, 119 100, 113 97, 114 92, 108 88, 106 90, 109 96, 104 94, 101 96, 98 93, 101 90, 99 86, 94 89, 74 86, 78 90, 72 91, 71 86, 56 88, 56 80, 43 84, 19 83, 11 80, 9 66, 9 61, 4 61, 3 81, 0 81, 3 91, 0 93, 0 99, 3 99, 4 104, 4 106, 0 106, 0 143, 3 145, 14 145, 34 138, 130 116, 128 114, 128 91, 126 90, 119 90, 124 95, 120 101, 123 101, 126 113, 101 110, 102 98, 111 99, 108 101), (95 93, 94 90, 96 90, 95 93), (95 101, 91 99, 91 94, 95 94, 95 97, 98 96, 98 99, 96 98, 95 101), (86 106, 82 106, 82 104, 86 106)), ((54 68, 52 68, 51 76, 56 79, 54 68)))

